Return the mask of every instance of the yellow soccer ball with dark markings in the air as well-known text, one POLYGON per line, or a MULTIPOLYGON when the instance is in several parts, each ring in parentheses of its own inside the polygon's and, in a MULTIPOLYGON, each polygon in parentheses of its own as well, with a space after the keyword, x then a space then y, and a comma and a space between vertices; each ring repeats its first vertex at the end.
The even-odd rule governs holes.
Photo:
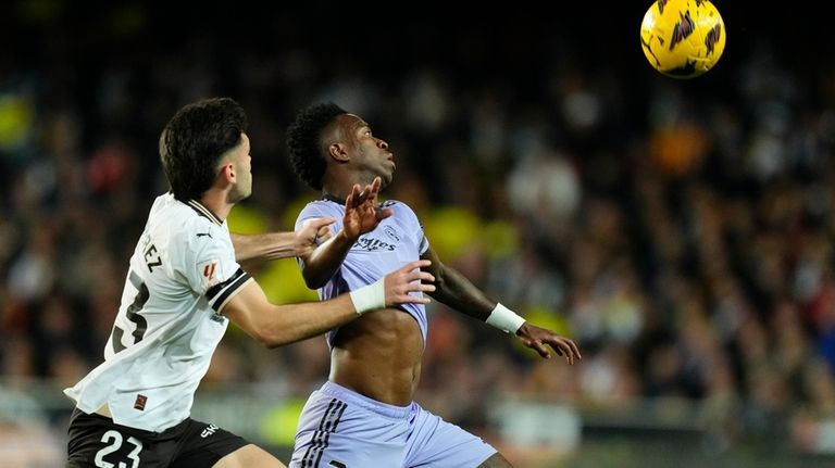
POLYGON ((640 24, 649 63, 674 78, 693 78, 716 64, 725 50, 725 25, 708 0, 657 0, 640 24))

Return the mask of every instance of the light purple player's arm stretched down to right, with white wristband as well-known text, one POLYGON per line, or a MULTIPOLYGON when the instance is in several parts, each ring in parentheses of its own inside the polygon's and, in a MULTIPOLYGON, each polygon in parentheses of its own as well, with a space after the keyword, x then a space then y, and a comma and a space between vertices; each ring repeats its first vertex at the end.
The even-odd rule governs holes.
POLYGON ((429 248, 422 256, 432 264, 424 269, 435 277, 435 292, 429 295, 459 312, 477 318, 496 328, 514 333, 522 343, 549 359, 550 346, 558 355, 565 356, 569 364, 582 358, 579 349, 570 339, 551 330, 525 321, 503 305, 491 301, 466 277, 454 268, 444 265, 435 251, 429 248))

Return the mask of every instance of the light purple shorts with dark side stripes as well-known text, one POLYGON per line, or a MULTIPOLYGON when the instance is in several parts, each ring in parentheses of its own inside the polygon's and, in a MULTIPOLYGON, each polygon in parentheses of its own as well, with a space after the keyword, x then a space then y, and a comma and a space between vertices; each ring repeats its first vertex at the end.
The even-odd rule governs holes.
POLYGON ((289 468, 475 468, 495 453, 418 403, 387 405, 328 381, 301 412, 289 468))

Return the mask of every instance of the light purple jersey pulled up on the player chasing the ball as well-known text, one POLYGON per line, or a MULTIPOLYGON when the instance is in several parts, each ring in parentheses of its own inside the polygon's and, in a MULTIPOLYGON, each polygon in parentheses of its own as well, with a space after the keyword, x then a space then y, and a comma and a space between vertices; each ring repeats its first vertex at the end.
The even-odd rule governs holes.
MULTIPOLYGON (((348 251, 339 269, 317 290, 321 300, 336 298, 371 284, 407 263, 419 260, 429 248, 423 226, 412 208, 398 201, 387 201, 381 206, 390 207, 394 213, 383 219, 376 229, 360 236, 348 251)), ((327 216, 336 218, 332 229, 337 232, 342 228, 345 203, 331 199, 308 203, 296 219, 296 230, 300 229, 307 219, 327 216)), ((418 295, 420 292, 412 294, 418 295)), ((423 342, 426 343, 426 309, 423 304, 402 304, 399 307, 418 320, 423 342)), ((331 330, 326 334, 329 346, 333 346, 337 330, 331 330)))

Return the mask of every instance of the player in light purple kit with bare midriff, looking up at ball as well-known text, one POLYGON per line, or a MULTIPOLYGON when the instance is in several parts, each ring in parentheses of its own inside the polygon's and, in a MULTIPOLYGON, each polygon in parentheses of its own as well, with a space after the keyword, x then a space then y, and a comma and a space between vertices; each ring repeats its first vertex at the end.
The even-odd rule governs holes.
MULTIPOLYGON (((324 195, 302 210, 299 227, 322 216, 340 217, 351 187, 370 184, 378 190, 394 176, 388 143, 333 103, 302 110, 288 128, 287 144, 296 173, 324 195)), ((333 238, 301 255, 304 279, 322 300, 428 258, 426 269, 437 278, 434 299, 514 333, 543 357, 551 356, 550 347, 569 364, 581 358, 572 340, 526 322, 445 266, 408 205, 390 201, 381 210, 391 215, 376 228, 354 239, 337 222, 334 228, 340 230, 333 238)), ((413 401, 425 342, 426 312, 420 303, 387 307, 329 331, 331 376, 304 406, 290 468, 509 467, 493 446, 413 401)))

